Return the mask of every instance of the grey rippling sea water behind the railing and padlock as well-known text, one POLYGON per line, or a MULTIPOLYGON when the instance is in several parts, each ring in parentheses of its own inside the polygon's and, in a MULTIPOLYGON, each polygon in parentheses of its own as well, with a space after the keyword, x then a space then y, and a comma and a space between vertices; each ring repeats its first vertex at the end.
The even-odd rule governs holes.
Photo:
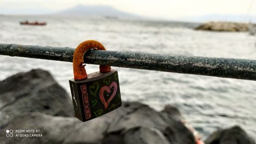
MULTIPOLYGON (((59 16, 0 16, 0 43, 72 47, 88 39, 107 50, 256 59, 256 37, 244 32, 193 30, 198 24, 59 16), (22 26, 23 20, 47 26, 22 26)), ((72 63, 0 55, 0 80, 41 68, 68 92, 72 63)), ((87 65, 88 73, 99 67, 87 65)), ((170 104, 204 138, 239 125, 256 137, 256 81, 118 68, 122 100, 161 110, 170 104)))

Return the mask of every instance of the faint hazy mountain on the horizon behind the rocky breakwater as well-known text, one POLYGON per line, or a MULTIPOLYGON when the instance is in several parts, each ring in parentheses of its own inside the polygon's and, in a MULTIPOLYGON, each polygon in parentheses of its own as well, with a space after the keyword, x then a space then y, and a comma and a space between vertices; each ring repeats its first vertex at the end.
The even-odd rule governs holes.
POLYGON ((182 20, 190 22, 209 22, 209 21, 227 21, 227 22, 244 22, 248 23, 249 20, 251 23, 256 23, 256 16, 249 15, 221 15, 221 14, 207 14, 203 16, 181 17, 182 20))

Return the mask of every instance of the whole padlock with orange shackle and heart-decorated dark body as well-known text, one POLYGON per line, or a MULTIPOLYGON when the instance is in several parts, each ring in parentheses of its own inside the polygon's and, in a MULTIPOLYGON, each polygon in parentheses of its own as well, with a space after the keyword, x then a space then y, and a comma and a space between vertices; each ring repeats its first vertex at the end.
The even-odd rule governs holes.
POLYGON ((116 70, 99 66, 100 71, 87 75, 83 55, 90 49, 106 50, 95 40, 78 45, 73 55, 74 78, 69 80, 75 116, 81 121, 99 117, 122 105, 116 70))

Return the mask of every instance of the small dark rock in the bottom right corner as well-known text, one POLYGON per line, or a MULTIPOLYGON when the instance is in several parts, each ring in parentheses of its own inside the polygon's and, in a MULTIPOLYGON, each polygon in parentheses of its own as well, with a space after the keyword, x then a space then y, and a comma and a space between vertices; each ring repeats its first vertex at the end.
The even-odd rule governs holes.
POLYGON ((255 141, 239 126, 218 130, 208 136, 204 142, 205 144, 255 144, 255 141))

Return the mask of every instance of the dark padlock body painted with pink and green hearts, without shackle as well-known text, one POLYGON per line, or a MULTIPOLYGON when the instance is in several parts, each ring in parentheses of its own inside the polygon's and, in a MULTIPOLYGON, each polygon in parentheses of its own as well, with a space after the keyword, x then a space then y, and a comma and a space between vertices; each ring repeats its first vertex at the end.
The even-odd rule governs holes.
POLYGON ((75 116, 81 121, 99 117, 121 106, 118 73, 94 72, 87 79, 69 80, 75 116))

